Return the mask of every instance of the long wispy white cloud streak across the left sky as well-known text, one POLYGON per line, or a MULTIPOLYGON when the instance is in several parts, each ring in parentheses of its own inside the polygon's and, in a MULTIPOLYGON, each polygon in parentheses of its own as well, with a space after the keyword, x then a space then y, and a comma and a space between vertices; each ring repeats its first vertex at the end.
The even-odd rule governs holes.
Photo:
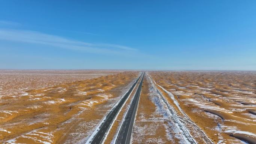
POLYGON ((64 49, 82 50, 92 53, 120 53, 137 49, 128 46, 102 43, 86 43, 77 40, 40 33, 38 31, 0 29, 0 40, 40 44, 64 49))

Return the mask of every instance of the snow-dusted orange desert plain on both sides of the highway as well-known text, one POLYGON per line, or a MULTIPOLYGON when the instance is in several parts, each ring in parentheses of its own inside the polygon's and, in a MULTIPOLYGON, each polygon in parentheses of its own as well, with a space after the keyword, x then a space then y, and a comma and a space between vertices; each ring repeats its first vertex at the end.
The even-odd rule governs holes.
MULTIPOLYGON (((141 71, 0 70, 0 143, 85 144, 141 71)), ((132 144, 256 143, 255 71, 147 71, 132 144)), ((104 144, 114 144, 134 91, 104 144)))

